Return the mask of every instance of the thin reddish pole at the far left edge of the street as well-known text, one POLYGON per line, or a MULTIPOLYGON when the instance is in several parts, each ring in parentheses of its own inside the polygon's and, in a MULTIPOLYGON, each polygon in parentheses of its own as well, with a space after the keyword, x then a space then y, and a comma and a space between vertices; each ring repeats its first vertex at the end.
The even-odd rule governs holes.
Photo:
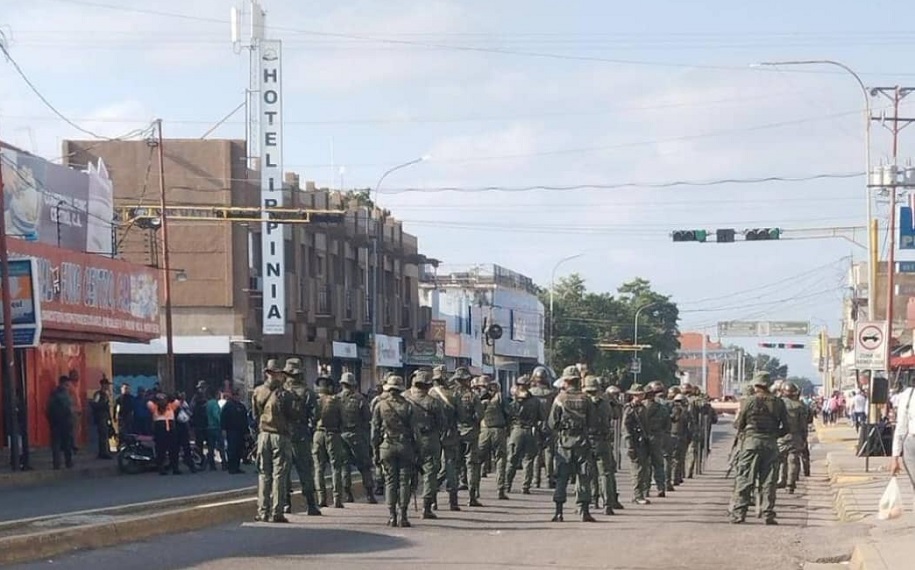
POLYGON ((4 400, 4 405, 6 407, 6 418, 8 420, 9 430, 8 435, 10 438, 10 469, 12 471, 19 470, 19 413, 18 405, 19 398, 16 393, 18 391, 18 386, 16 385, 19 379, 18 374, 16 373, 16 348, 13 345, 13 303, 10 298, 10 259, 9 259, 9 250, 7 249, 7 235, 6 235, 6 216, 3 215, 3 212, 6 211, 5 205, 6 193, 3 187, 3 169, 0 168, 0 274, 2 274, 2 282, 0 282, 0 289, 2 289, 2 302, 3 302, 3 384, 6 388, 6 399, 4 400))

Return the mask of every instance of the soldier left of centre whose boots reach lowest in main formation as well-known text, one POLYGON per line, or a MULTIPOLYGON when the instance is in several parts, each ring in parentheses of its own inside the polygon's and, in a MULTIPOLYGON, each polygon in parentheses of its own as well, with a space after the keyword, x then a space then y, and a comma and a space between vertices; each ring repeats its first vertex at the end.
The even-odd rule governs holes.
POLYGON ((407 528, 411 526, 407 507, 412 487, 416 428, 413 405, 404 399, 403 391, 403 378, 388 376, 384 395, 372 411, 372 449, 377 461, 384 465, 385 502, 390 512, 388 526, 407 528))

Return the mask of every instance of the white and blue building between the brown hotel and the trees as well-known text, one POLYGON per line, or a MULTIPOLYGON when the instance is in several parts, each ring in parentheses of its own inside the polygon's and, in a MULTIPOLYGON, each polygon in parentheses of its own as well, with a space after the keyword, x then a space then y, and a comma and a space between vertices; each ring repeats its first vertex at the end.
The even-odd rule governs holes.
POLYGON ((432 334, 444 337, 438 342, 450 369, 494 374, 507 389, 543 362, 544 308, 529 277, 498 265, 424 273, 420 302, 429 308, 432 334), (501 336, 486 334, 497 329, 501 336))

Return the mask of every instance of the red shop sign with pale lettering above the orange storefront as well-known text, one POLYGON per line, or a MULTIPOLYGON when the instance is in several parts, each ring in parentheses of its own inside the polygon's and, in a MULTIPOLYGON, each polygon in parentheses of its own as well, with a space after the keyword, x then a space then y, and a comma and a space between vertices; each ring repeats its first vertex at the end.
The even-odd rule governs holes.
POLYGON ((11 256, 35 259, 45 337, 148 342, 160 336, 155 269, 41 243, 9 245, 11 256))

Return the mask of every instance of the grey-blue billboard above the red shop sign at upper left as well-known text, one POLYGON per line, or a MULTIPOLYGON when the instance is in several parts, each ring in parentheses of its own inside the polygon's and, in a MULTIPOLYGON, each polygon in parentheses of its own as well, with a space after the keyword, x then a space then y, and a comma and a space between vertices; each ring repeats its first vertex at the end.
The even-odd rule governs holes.
POLYGON ((0 149, 10 237, 110 255, 113 186, 100 160, 85 172, 0 149))

